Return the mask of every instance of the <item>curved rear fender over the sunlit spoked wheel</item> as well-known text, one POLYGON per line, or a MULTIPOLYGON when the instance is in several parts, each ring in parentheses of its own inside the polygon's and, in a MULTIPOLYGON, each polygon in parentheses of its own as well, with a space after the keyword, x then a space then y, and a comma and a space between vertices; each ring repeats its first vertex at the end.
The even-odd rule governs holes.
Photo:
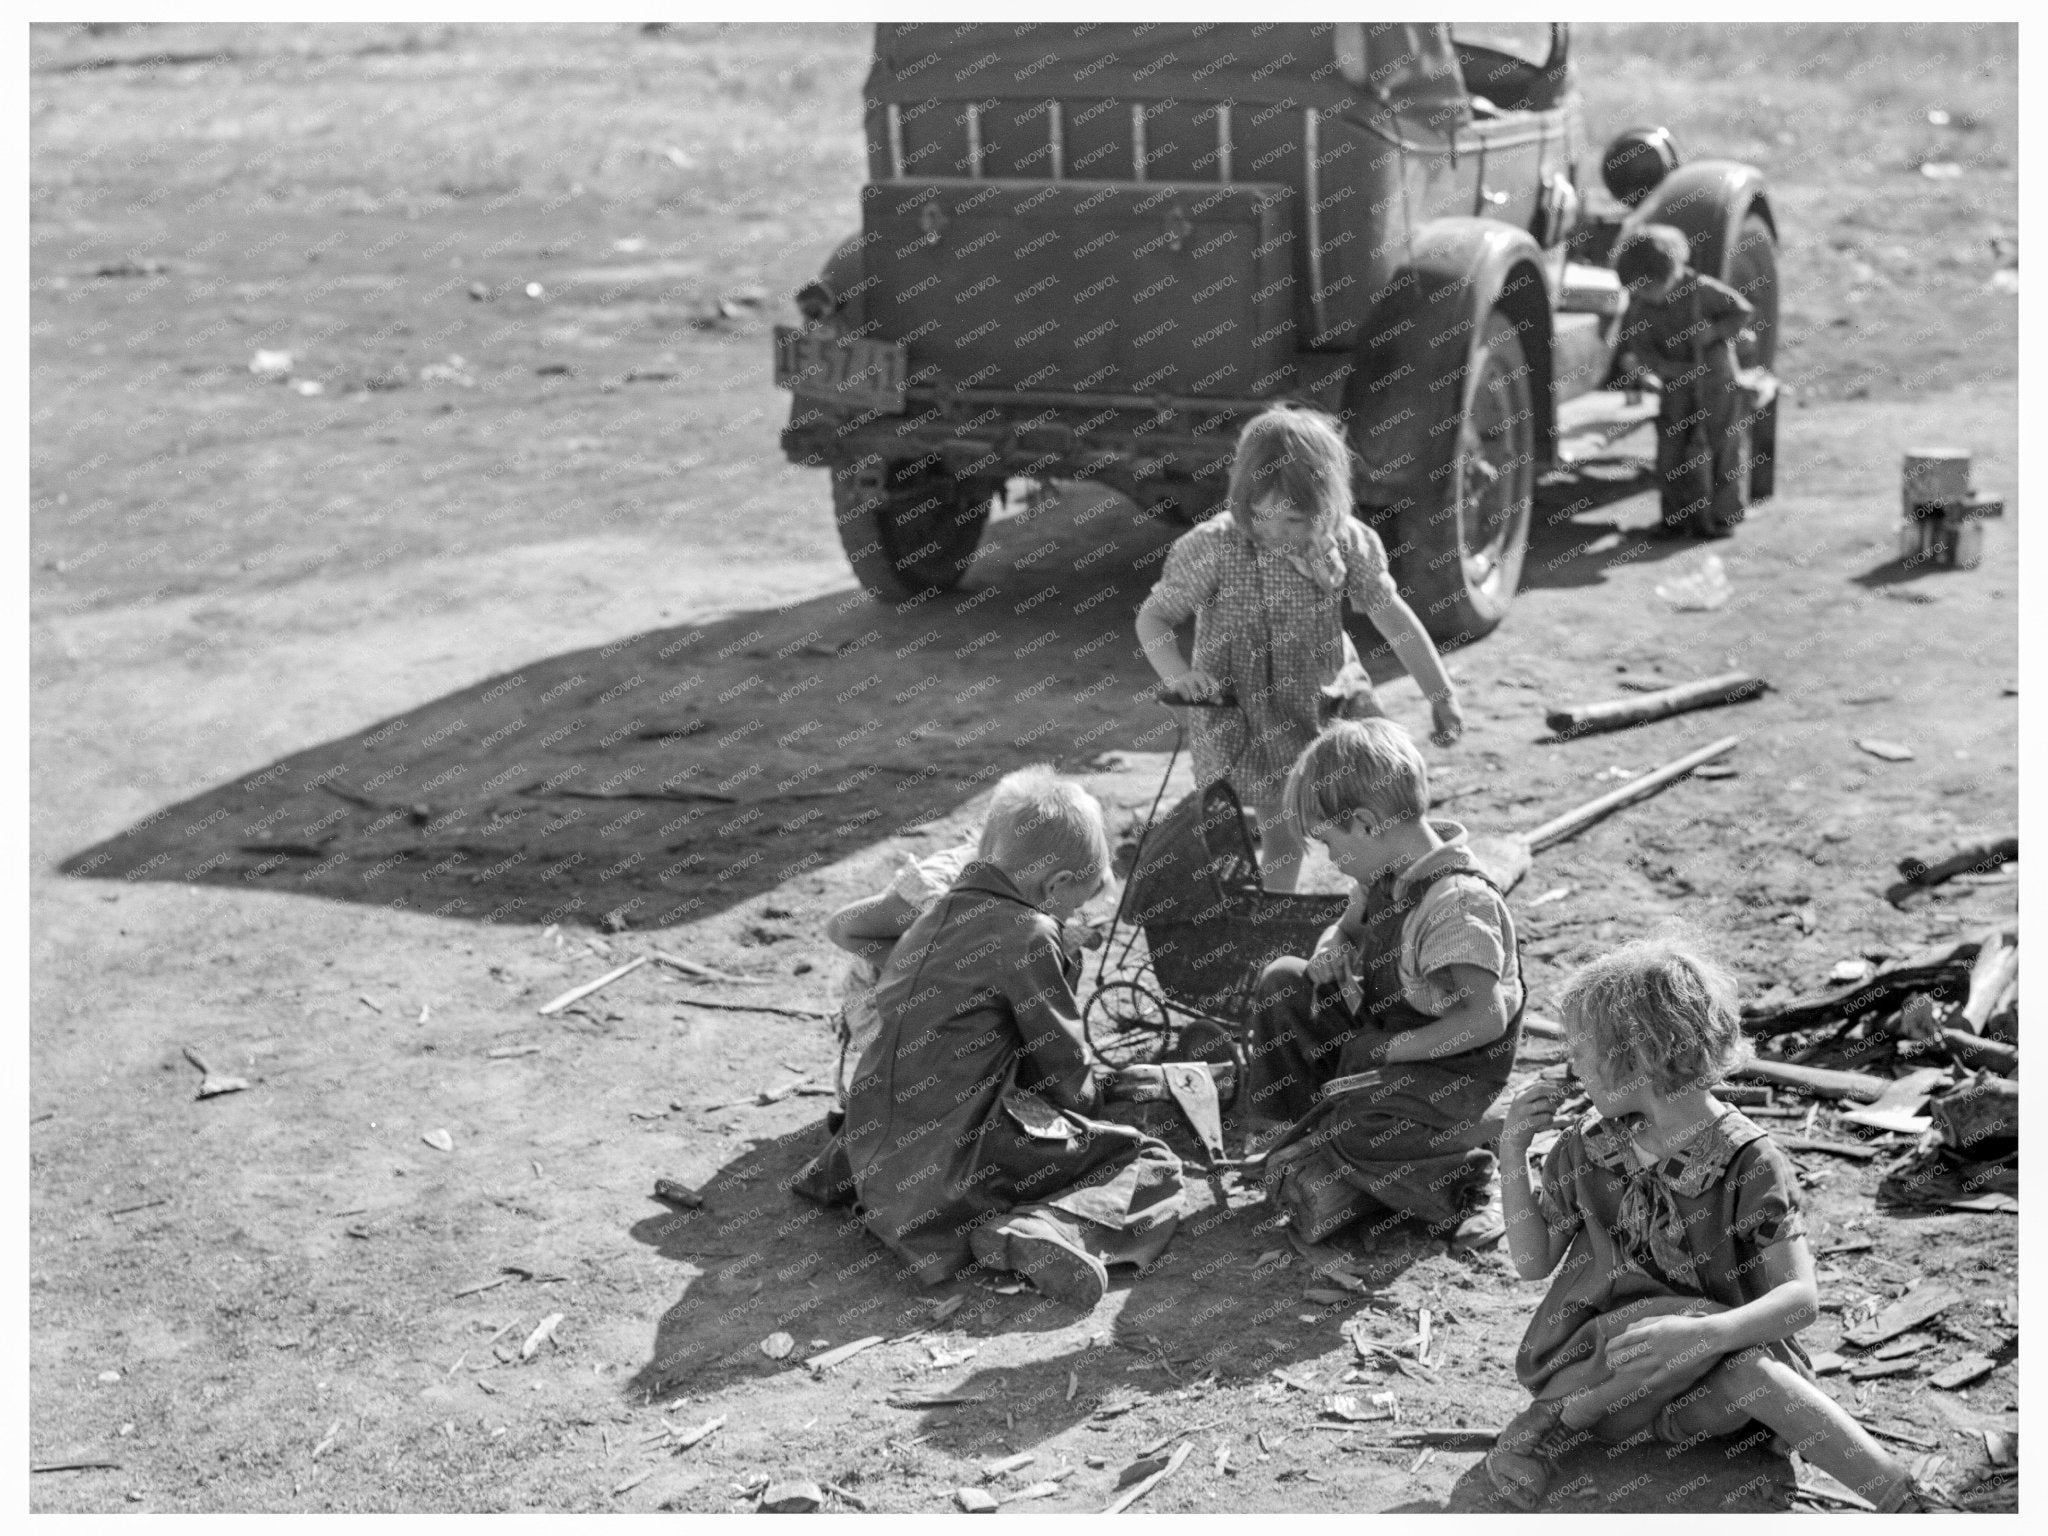
MULTIPOLYGON (((1362 467, 1360 516, 1395 524, 1430 508, 1452 461, 1454 430, 1432 430, 1464 401, 1470 334, 1499 307, 1522 330, 1536 406, 1536 457, 1556 451, 1550 399, 1550 301, 1542 252, 1497 219, 1432 219, 1366 311, 1343 387, 1343 420, 1362 467)), ((1397 524, 1395 524, 1397 526, 1397 524)))

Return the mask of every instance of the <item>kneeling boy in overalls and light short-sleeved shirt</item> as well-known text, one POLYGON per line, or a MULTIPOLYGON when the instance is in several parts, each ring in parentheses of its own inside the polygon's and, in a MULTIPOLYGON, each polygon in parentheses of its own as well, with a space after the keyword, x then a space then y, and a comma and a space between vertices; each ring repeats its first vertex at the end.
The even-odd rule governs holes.
POLYGON ((1290 811, 1356 881, 1307 958, 1260 977, 1239 1110, 1292 1120, 1266 1182, 1307 1241, 1389 1210, 1454 1247, 1501 1239, 1495 1102, 1522 1038, 1513 918, 1430 770, 1386 719, 1339 721, 1286 780, 1290 811))

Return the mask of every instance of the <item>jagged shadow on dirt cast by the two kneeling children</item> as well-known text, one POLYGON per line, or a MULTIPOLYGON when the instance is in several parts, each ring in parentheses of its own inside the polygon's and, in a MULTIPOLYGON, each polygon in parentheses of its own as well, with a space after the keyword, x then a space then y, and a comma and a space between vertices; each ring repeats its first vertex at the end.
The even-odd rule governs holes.
POLYGON ((961 1374, 977 1339, 1057 1333, 1081 1317, 1028 1288, 1001 1294, 997 1286, 1014 1282, 1008 1274, 961 1276, 932 1290, 903 1278, 852 1210, 827 1210, 784 1188, 823 1145, 823 1124, 813 1122, 733 1159, 702 1188, 705 1208, 649 1217, 631 1229, 635 1241, 684 1266, 686 1278, 657 1323, 647 1364, 625 1391, 649 1401, 705 1397, 735 1380, 797 1370, 825 1348, 813 1348, 813 1339, 895 1339, 930 1327, 911 1356, 895 1354, 903 1370, 889 1397, 901 1399, 905 1425, 915 1415, 915 1432, 952 1454, 971 1454, 983 1440, 1016 1448, 1085 1419, 1108 1423, 1165 1405, 1210 1374, 1245 1380, 1321 1358, 1331 1348, 1333 1319, 1374 1305, 1393 1315, 1413 1303, 1389 1288, 1399 1288, 1417 1260, 1440 1251, 1419 1227, 1395 1229, 1370 1249, 1348 1249, 1339 1239, 1337 1251, 1368 1290, 1329 1305, 1305 1298, 1307 1288, 1329 1282, 1294 1257, 1257 1188, 1231 1178, 1219 1192, 1184 1130, 1157 1110, 1124 1112, 1145 1114, 1139 1122, 1182 1155, 1190 1210, 1151 1268, 1110 1272, 1114 1317, 1079 1348, 961 1374), (954 1296, 963 1300, 958 1311, 934 1325, 932 1309, 954 1296), (793 1337, 780 1362, 760 1348, 778 1331, 793 1337))

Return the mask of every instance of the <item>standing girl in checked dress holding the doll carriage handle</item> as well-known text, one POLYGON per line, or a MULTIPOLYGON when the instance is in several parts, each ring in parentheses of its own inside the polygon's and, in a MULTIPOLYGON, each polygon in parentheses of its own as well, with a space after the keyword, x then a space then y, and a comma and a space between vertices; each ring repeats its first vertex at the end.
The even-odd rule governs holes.
POLYGON ((1235 694, 1235 709, 1198 711, 1190 723, 1194 780, 1227 778, 1260 813, 1272 891, 1300 881, 1303 840, 1284 815, 1282 786, 1323 727, 1323 690, 1343 684, 1350 717, 1380 713, 1343 629, 1346 598, 1421 686, 1438 745, 1456 741, 1464 729, 1458 690, 1395 592, 1378 535, 1352 516, 1343 434, 1321 412, 1262 412, 1237 438, 1225 510, 1174 541, 1137 631, 1178 698, 1235 694), (1174 639, 1190 616, 1192 666, 1174 639))

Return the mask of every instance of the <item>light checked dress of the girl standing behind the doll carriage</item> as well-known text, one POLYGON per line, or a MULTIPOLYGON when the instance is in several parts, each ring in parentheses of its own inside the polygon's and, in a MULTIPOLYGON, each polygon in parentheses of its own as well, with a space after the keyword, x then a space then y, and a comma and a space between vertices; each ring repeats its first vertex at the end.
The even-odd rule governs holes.
POLYGON ((1307 553, 1260 549, 1227 510, 1176 539, 1145 606, 1167 625, 1192 616, 1194 670, 1237 694, 1237 709, 1188 711, 1196 786, 1229 778, 1276 817, 1288 768, 1323 729, 1319 690, 1350 670, 1354 713, 1378 713, 1343 598, 1366 612, 1395 596, 1380 537, 1350 516, 1307 553))

